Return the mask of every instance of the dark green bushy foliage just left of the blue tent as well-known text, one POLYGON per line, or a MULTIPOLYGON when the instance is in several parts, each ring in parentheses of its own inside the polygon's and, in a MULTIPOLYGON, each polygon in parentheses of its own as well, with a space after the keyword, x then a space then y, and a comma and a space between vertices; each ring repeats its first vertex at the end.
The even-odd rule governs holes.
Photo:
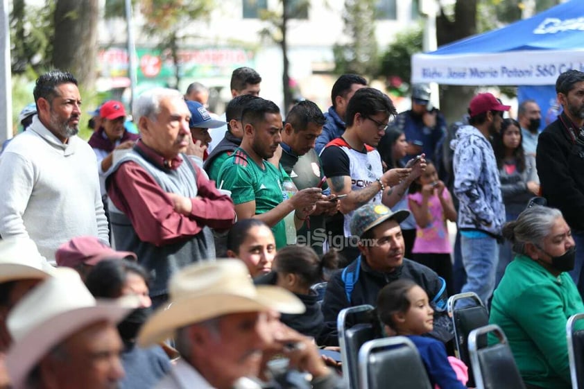
POLYGON ((387 80, 399 77, 406 83, 409 82, 411 79, 410 58, 413 54, 422 51, 423 37, 421 26, 398 33, 395 41, 388 46, 381 57, 381 69, 378 76, 383 76, 387 80))

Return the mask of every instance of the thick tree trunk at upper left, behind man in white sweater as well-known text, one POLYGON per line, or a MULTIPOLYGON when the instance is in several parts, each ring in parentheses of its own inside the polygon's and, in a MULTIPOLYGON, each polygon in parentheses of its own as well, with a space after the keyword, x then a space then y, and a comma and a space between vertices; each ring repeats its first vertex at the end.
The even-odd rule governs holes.
POLYGON ((57 0, 53 65, 91 90, 96 80, 98 0, 57 0))

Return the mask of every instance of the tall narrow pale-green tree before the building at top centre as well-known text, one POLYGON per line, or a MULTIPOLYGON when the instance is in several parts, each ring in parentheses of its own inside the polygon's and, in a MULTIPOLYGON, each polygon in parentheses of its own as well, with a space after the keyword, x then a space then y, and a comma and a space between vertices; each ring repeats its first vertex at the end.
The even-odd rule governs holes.
POLYGON ((378 73, 376 4, 375 0, 345 0, 343 21, 349 42, 333 46, 336 74, 375 76, 378 73))

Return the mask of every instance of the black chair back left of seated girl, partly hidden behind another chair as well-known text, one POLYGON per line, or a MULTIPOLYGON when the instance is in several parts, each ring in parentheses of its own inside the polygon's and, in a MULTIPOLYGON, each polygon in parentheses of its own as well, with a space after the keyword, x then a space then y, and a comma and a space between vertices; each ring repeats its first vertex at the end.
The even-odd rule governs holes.
POLYGON ((343 379, 347 388, 358 388, 359 348, 366 341, 375 338, 375 330, 370 322, 369 312, 373 307, 368 304, 350 306, 338 313, 336 327, 338 345, 341 348, 343 379))

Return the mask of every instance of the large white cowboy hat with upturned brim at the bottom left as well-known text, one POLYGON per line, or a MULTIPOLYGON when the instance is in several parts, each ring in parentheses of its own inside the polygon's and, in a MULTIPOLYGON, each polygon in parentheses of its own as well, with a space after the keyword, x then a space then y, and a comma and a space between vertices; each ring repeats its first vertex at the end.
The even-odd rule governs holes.
POLYGON ((53 277, 27 293, 8 314, 13 342, 6 368, 12 386, 24 387, 34 366, 67 336, 94 322, 115 324, 136 306, 137 298, 97 301, 75 270, 55 269, 53 277))

